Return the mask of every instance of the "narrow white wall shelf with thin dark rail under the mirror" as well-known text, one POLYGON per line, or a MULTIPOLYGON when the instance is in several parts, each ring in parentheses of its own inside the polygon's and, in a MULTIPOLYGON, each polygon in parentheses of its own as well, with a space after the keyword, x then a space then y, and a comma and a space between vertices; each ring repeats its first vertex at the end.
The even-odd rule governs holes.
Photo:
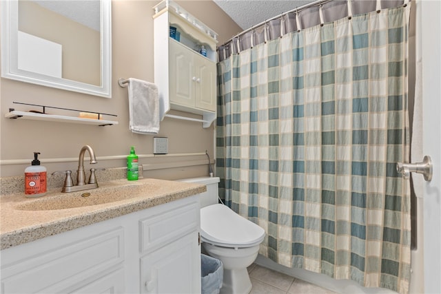
POLYGON ((56 121, 59 123, 80 123, 83 125, 118 125, 117 121, 114 120, 103 120, 103 119, 93 119, 93 118, 79 118, 74 116, 60 116, 57 114, 38 114, 34 112, 19 112, 13 110, 5 114, 6 118, 22 118, 29 120, 46 120, 46 121, 56 121))

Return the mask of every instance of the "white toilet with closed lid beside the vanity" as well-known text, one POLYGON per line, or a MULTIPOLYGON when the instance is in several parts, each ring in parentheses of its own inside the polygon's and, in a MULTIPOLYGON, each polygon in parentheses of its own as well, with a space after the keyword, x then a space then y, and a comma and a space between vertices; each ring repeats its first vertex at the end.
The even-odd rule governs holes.
POLYGON ((207 192, 201 195, 201 240, 205 253, 223 262, 220 293, 249 293, 252 284, 247 266, 256 260, 265 230, 218 204, 219 180, 204 177, 181 181, 207 186, 207 192))

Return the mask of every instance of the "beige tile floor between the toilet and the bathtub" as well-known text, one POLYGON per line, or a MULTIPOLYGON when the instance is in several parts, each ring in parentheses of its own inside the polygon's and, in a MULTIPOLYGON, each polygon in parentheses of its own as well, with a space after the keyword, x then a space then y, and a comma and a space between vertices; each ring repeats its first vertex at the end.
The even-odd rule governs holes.
POLYGON ((248 273, 253 284, 250 294, 336 294, 257 264, 249 266, 248 273))

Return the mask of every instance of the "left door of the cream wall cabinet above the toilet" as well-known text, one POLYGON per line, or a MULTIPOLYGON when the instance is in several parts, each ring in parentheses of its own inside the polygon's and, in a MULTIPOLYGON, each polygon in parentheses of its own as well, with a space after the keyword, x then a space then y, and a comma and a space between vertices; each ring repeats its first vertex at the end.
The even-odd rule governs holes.
POLYGON ((170 101, 194 106, 193 52, 170 40, 170 101))

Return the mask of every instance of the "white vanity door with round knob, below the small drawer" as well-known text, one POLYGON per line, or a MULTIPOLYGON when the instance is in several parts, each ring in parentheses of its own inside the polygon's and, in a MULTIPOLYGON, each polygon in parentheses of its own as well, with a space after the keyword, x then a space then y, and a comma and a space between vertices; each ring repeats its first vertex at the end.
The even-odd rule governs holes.
POLYGON ((141 293, 201 293, 195 231, 141 258, 141 293))

